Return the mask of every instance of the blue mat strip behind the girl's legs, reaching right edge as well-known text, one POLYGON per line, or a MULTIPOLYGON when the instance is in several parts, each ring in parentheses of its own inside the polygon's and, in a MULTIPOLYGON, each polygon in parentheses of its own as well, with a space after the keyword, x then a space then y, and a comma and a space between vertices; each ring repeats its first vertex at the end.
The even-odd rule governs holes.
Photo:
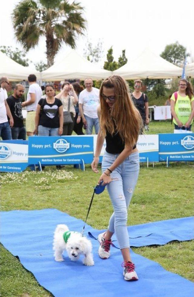
MULTIPOLYGON (((127 229, 131 247, 163 245, 174 240, 192 240, 194 239, 194 217, 134 225, 127 229)), ((89 236, 97 240, 98 234, 99 230, 95 230, 94 233, 89 233, 89 236)), ((112 241, 115 247, 118 247, 115 234, 112 241)))

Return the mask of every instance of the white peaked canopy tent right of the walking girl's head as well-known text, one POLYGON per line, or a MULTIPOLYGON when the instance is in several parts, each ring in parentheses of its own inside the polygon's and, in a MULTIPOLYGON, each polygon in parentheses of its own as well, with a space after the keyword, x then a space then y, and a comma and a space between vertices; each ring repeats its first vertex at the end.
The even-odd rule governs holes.
POLYGON ((125 79, 162 79, 180 77, 182 68, 145 49, 135 60, 113 71, 125 79))

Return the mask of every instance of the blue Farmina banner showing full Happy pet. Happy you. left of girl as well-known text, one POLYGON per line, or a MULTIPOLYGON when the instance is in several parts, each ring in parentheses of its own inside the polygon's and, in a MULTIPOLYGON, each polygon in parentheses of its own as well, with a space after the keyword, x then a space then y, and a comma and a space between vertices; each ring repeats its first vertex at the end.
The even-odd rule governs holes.
POLYGON ((91 136, 32 136, 28 138, 28 164, 62 165, 91 163, 91 136))

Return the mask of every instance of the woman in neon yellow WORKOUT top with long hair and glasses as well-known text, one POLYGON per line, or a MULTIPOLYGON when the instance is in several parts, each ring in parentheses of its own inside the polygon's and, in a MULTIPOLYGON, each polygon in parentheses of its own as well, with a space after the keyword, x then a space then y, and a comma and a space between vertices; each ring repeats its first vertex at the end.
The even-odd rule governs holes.
POLYGON ((179 90, 172 94, 170 106, 175 129, 191 131, 194 118, 194 93, 189 81, 184 78, 179 80, 179 90))

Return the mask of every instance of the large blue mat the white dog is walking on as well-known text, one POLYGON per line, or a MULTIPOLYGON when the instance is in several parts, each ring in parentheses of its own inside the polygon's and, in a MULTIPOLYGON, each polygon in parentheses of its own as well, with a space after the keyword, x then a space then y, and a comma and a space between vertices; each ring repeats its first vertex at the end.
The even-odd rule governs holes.
MULTIPOLYGON (((99 258, 99 243, 92 241, 95 266, 86 267, 81 260, 72 262, 64 252, 64 262, 55 262, 52 251, 53 232, 57 224, 82 231, 83 221, 55 209, 13 210, 1 214, 1 242, 22 265, 33 273, 40 285, 55 297, 191 297, 192 282, 166 271, 158 263, 133 251, 132 259, 139 276, 126 282, 121 267, 121 252, 112 248, 108 260, 99 258)), ((86 225, 85 235, 96 230, 86 225)), ((99 231, 98 231, 99 232, 99 231)))

